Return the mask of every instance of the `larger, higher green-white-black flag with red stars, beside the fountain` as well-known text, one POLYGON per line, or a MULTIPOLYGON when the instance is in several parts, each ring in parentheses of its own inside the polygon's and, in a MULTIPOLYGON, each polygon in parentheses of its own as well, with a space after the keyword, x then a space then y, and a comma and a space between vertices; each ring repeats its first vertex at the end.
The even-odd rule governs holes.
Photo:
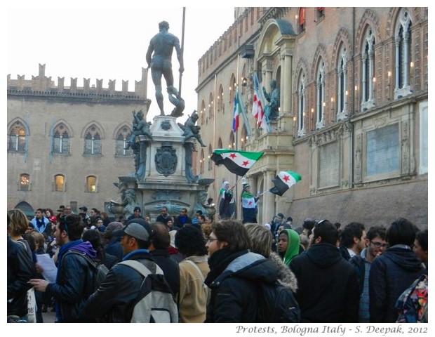
POLYGON ((237 176, 244 176, 263 154, 264 152, 216 149, 213 150, 213 154, 211 154, 211 160, 213 160, 216 165, 224 164, 228 171, 237 176))

